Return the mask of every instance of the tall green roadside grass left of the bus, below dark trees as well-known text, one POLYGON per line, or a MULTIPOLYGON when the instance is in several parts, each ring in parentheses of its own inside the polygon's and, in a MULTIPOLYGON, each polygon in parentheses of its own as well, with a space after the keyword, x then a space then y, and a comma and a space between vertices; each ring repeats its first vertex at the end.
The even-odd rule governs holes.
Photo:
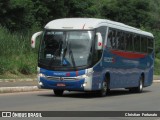
POLYGON ((0 27, 0 78, 36 73, 37 49, 30 47, 32 32, 10 33, 0 27))

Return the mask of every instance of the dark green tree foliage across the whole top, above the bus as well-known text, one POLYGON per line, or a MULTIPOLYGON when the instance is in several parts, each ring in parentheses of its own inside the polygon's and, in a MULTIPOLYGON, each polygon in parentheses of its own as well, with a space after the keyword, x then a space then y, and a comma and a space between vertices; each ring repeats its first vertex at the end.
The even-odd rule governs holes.
POLYGON ((63 17, 99 17, 134 27, 160 27, 158 0, 1 0, 0 24, 12 31, 63 17))

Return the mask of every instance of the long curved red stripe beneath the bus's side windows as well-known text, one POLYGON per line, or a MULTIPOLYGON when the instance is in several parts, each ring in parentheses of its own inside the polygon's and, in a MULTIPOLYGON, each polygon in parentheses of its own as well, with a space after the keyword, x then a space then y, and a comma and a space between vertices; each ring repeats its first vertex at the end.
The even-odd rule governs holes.
POLYGON ((111 50, 113 54, 118 56, 128 58, 128 59, 137 59, 137 58, 144 58, 146 54, 144 53, 133 53, 133 52, 126 52, 126 51, 119 51, 119 50, 111 50))

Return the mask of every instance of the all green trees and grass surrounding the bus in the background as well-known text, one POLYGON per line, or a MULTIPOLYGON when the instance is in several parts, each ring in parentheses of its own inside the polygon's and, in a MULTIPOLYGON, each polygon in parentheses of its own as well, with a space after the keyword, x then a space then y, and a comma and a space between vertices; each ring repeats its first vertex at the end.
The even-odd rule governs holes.
POLYGON ((0 78, 35 74, 38 47, 30 47, 32 34, 64 17, 110 19, 153 33, 154 73, 160 75, 159 0, 1 0, 0 7, 0 78))

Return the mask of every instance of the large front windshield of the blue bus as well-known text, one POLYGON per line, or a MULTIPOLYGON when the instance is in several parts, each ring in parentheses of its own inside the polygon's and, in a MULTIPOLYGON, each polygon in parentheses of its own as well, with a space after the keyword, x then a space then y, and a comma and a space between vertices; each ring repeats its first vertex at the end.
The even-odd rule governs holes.
POLYGON ((63 70, 91 64, 93 31, 45 30, 40 51, 39 63, 63 70))

